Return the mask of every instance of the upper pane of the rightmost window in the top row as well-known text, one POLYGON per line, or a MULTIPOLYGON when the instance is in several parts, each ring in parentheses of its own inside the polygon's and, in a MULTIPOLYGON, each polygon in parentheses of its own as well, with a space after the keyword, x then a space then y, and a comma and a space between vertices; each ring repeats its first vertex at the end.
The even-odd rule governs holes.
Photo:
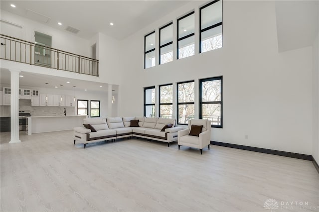
POLYGON ((217 1, 201 9, 201 29, 222 21, 222 1, 217 1))

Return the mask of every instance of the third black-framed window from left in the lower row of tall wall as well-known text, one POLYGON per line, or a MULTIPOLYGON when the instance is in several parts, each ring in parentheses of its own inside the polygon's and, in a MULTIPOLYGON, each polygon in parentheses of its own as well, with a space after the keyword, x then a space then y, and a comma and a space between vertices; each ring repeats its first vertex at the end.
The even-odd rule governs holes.
POLYGON ((177 124, 187 124, 194 118, 194 81, 177 83, 177 124))

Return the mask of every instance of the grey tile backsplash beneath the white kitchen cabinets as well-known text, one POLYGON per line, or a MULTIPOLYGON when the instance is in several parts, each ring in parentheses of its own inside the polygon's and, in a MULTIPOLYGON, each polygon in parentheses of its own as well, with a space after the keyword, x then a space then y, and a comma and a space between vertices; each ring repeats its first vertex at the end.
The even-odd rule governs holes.
MULTIPOLYGON (((31 116, 63 115, 64 106, 31 106, 31 100, 19 100, 19 111, 28 110, 31 116)), ((75 115, 74 106, 66 106, 66 115, 75 115)), ((10 106, 0 107, 1 116, 10 115, 10 106)))

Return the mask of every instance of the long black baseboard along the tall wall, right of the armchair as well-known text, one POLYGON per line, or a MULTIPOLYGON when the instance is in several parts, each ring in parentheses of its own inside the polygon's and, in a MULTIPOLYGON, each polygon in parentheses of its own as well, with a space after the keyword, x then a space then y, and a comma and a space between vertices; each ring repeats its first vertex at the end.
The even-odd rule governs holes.
POLYGON ((210 141, 210 144, 213 144, 216 146, 225 146, 225 147, 230 147, 230 148, 235 148, 235 149, 243 149, 243 150, 248 150, 248 151, 253 151, 253 152, 261 152, 261 153, 266 153, 266 154, 280 155, 280 156, 285 156, 285 157, 313 161, 312 155, 305 155, 305 154, 299 154, 299 153, 294 153, 294 152, 285 152, 285 151, 279 151, 279 150, 273 150, 273 149, 264 149, 264 148, 259 148, 259 147, 244 146, 244 145, 238 145, 238 144, 232 144, 232 143, 223 143, 223 142, 218 142, 218 141, 210 141))

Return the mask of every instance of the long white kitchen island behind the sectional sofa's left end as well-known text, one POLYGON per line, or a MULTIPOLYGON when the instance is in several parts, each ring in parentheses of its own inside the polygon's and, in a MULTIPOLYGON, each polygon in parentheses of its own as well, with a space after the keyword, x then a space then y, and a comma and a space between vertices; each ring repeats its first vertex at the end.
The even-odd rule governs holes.
POLYGON ((28 135, 39 132, 71 130, 83 126, 87 115, 50 115, 28 117, 28 135))

